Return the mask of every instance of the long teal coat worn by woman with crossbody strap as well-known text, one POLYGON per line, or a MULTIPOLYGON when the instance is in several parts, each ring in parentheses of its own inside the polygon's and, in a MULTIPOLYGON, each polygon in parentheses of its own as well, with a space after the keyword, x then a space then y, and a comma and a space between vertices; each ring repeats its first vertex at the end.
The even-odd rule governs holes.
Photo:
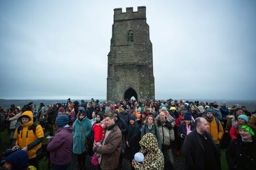
POLYGON ((85 141, 86 137, 89 137, 91 135, 92 123, 87 117, 84 117, 82 121, 76 119, 76 121, 73 124, 73 127, 73 153, 82 154, 83 152, 87 151, 85 141), (84 132, 82 131, 80 125, 82 125, 84 132))

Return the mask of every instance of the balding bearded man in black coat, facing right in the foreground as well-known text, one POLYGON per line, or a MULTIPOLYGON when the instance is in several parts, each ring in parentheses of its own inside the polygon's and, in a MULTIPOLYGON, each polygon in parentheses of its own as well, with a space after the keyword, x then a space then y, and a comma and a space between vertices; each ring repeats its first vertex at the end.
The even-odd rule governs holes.
POLYGON ((212 136, 208 133, 207 121, 198 117, 196 129, 190 132, 184 141, 182 152, 186 170, 220 170, 220 151, 212 136))

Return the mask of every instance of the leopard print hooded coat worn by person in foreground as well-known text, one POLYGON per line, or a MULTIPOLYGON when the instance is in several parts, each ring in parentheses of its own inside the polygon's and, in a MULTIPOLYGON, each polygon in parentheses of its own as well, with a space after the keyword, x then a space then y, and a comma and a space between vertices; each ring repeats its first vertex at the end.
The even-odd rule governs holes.
POLYGON ((155 135, 146 133, 140 140, 140 152, 144 154, 142 163, 132 160, 132 166, 136 170, 163 170, 164 155, 158 148, 158 143, 155 135))

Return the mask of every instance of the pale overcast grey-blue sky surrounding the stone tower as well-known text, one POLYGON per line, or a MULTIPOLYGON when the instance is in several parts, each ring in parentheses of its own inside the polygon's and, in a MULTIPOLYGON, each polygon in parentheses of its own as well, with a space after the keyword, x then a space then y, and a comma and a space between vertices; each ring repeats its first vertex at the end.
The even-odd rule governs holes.
POLYGON ((256 99, 255 0, 1 0, 0 98, 106 99, 113 10, 137 6, 156 99, 256 99))

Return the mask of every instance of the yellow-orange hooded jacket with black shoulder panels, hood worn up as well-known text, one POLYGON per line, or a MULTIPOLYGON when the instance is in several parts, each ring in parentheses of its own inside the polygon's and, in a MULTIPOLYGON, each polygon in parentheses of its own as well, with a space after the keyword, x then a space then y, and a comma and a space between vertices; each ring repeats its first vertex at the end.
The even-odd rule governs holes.
MULTIPOLYGON (((26 117, 27 117, 26 116, 26 117)), ((15 130, 14 139, 16 139, 15 145, 18 145, 20 149, 28 147, 28 159, 35 158, 41 154, 42 141, 44 140, 44 131, 41 125, 36 126, 36 134, 34 134, 32 129, 29 129, 33 125, 33 114, 31 111, 25 111, 18 118, 22 128, 18 133, 18 128, 15 130), (21 118, 27 115, 30 117, 30 121, 23 124, 21 118)))

